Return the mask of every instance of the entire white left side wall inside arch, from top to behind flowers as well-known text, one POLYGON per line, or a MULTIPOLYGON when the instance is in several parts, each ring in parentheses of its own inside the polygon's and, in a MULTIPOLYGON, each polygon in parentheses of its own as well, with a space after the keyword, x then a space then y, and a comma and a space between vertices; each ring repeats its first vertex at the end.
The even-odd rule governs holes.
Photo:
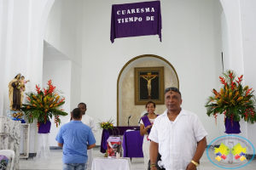
MULTIPOLYGON (((56 0, 49 12, 49 17, 45 26, 44 41, 48 46, 44 47, 47 50, 44 57, 49 62, 45 62, 44 67, 44 82, 51 78, 57 79, 58 82, 63 82, 65 87, 63 96, 66 98, 64 107, 67 108, 68 114, 73 108, 76 108, 81 102, 81 65, 82 65, 82 6, 81 0, 56 0), (51 46, 49 48, 49 46, 51 46), (56 65, 50 64, 54 62, 56 65), (65 65, 61 63, 69 63, 65 65), (48 64, 47 64, 48 63, 48 64), (48 67, 48 65, 50 65, 48 67), (48 69, 54 74, 48 74, 48 69), (61 72, 63 69, 64 72, 61 72), (69 71, 68 74, 67 71, 69 71), (45 79, 45 77, 47 77, 45 79)), ((57 86, 57 88, 60 88, 57 86)), ((63 90, 63 89, 61 89, 63 90)), ((67 122, 67 117, 61 119, 62 124, 67 122)), ((53 120, 54 122, 54 120, 53 120)), ((51 133, 49 136, 49 145, 56 146, 55 136, 60 129, 51 126, 51 133)))

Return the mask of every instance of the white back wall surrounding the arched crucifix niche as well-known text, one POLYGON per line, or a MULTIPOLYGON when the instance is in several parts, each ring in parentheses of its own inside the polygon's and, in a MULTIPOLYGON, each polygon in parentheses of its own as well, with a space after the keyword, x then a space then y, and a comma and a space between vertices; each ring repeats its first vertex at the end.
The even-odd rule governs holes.
MULTIPOLYGON (((163 0, 160 3, 163 42, 158 36, 146 36, 118 38, 111 43, 112 2, 84 2, 82 100, 90 107, 89 114, 96 121, 99 117, 102 121, 111 116, 116 118, 119 71, 138 55, 156 54, 176 69, 183 94, 182 106, 200 116, 211 141, 218 137, 219 130, 214 119, 207 117, 204 105, 211 89, 218 88, 222 71, 221 50, 217 48, 221 44, 217 31, 221 6, 218 1, 204 0, 163 0)), ((100 144, 100 137, 101 133, 97 133, 96 144, 100 144)))

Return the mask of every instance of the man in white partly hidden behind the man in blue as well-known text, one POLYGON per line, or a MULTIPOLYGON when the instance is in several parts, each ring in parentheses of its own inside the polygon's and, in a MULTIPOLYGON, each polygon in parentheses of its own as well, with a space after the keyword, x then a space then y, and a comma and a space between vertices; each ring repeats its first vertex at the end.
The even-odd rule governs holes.
MULTIPOLYGON (((85 115, 85 111, 87 111, 86 105, 84 103, 79 103, 78 107, 82 111, 82 114, 83 114, 81 122, 83 122, 85 125, 89 126, 92 130, 93 135, 95 136, 97 127, 96 127, 96 124, 95 124, 94 120, 92 119, 92 117, 85 115)), ((68 122, 70 122, 70 121, 71 121, 71 118, 68 119, 68 122)), ((88 150, 87 155, 88 155, 87 167, 90 168, 91 164, 92 164, 92 160, 93 160, 93 149, 88 150)))

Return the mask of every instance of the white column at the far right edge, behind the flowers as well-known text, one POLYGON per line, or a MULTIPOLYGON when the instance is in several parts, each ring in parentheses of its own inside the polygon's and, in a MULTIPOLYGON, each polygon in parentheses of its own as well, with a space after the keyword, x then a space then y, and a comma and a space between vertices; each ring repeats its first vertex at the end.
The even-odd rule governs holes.
MULTIPOLYGON (((255 0, 240 0, 241 5, 241 34, 242 34, 242 49, 244 63, 244 83, 253 90, 256 89, 256 1, 255 0)), ((255 93, 254 93, 255 94, 255 93)), ((256 136, 254 129, 256 124, 247 123, 246 138, 256 145, 256 136)), ((253 154, 253 153, 249 153, 253 154)))

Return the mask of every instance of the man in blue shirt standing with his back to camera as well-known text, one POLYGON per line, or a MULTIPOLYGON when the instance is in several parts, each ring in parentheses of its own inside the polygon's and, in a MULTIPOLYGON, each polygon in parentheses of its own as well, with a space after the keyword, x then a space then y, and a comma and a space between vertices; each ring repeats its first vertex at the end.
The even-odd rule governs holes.
POLYGON ((71 116, 73 120, 61 126, 55 140, 63 147, 63 170, 84 170, 87 168, 87 150, 95 147, 96 139, 90 127, 81 122, 79 108, 74 109, 71 116))

